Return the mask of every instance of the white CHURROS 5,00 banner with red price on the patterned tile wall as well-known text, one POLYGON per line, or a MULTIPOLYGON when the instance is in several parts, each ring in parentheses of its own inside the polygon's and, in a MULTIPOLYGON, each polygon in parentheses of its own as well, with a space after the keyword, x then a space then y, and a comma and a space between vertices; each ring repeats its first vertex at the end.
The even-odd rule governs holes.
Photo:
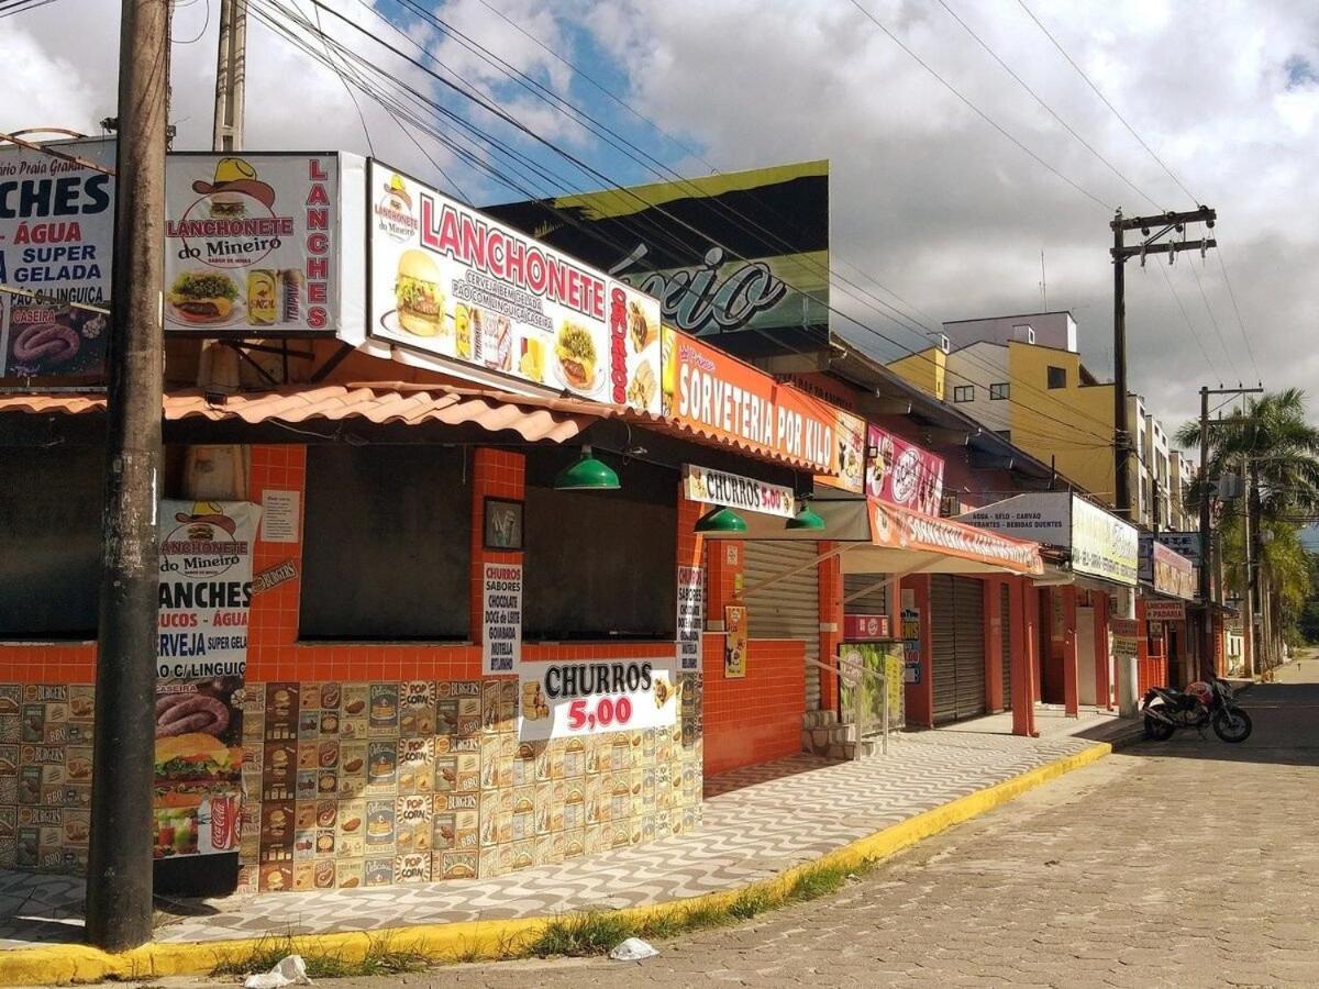
POLYGON ((521 663, 517 736, 574 738, 677 720, 682 683, 673 659, 521 663))

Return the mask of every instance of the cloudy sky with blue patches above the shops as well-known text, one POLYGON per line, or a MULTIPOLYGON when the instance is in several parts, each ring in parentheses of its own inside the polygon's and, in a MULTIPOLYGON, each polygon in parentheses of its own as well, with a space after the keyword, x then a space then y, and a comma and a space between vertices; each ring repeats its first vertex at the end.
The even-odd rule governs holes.
MULTIPOLYGON (((613 182, 654 181, 656 173, 637 152, 587 133, 561 112, 566 104, 686 175, 828 158, 835 272, 868 295, 896 295, 914 323, 1038 309, 1043 251, 1049 307, 1072 310, 1082 352, 1100 375, 1112 367, 1108 222, 1116 207, 1128 215, 1155 211, 1151 202, 1191 208, 1170 170, 1219 211, 1215 232, 1242 322, 1212 255, 1202 262, 1187 253, 1173 268, 1130 264, 1133 389, 1175 426, 1196 410, 1204 382, 1262 377, 1270 389, 1310 386, 1319 371, 1311 290, 1319 265, 1319 5, 1026 0, 1165 170, 1017 0, 859 1, 897 41, 851 0, 324 0, 323 11, 311 0, 253 0, 247 148, 373 149, 477 204, 522 198, 518 190, 601 185, 472 108, 376 36, 475 87, 613 182), (318 13, 330 42, 295 26, 295 17, 318 13), (435 17, 452 32, 441 33, 435 17), (377 92, 390 87, 410 102, 414 120, 398 123, 355 94, 359 111, 339 75, 274 28, 299 34, 377 92), (509 82, 481 47, 543 90, 509 82), (381 82, 375 69, 393 79, 381 82), (456 119, 437 121, 442 112, 456 119)), ((115 0, 57 0, 0 20, 7 62, 22 66, 7 74, 0 129, 98 132, 115 104, 117 9, 115 0)), ((210 146, 216 12, 218 0, 177 4, 177 148, 210 146)), ((919 345, 857 295, 835 285, 840 309, 902 347, 919 345)), ((867 339, 885 355, 898 349, 867 339)))

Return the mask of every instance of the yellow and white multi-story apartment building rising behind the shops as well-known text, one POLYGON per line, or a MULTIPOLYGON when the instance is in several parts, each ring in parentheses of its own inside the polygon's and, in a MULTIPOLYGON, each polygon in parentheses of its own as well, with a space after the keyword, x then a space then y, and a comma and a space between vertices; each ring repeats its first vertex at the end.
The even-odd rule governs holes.
MULTIPOLYGON (((890 367, 1113 504, 1113 384, 1082 361, 1071 313, 948 322, 933 347, 890 367)), ((1190 463, 1169 448, 1142 397, 1126 396, 1126 418, 1132 521, 1146 529, 1182 527, 1179 493, 1190 463)))

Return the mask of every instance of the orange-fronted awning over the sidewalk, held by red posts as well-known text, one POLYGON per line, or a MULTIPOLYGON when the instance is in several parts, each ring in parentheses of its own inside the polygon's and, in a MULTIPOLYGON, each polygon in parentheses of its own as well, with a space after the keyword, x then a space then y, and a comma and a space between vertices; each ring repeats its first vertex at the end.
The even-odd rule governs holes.
POLYGON ((747 531, 707 538, 839 543, 844 574, 1026 574, 1043 572, 1039 546, 997 533, 923 516, 876 498, 820 498, 811 506, 823 530, 785 529, 783 520, 745 514, 747 531))

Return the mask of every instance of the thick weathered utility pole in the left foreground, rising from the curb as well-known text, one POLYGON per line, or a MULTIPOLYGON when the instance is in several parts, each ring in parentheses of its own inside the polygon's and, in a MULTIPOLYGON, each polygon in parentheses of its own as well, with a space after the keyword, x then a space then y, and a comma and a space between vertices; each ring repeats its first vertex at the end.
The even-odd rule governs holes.
POLYGON ((152 935, 169 0, 123 0, 87 938, 152 935))

